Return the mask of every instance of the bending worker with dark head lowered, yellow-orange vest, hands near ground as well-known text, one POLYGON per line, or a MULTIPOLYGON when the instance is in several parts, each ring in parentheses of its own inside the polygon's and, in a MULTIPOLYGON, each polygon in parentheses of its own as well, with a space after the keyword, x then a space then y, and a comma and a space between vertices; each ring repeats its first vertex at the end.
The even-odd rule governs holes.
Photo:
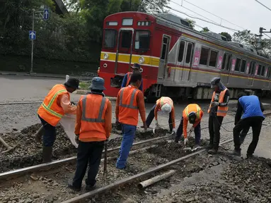
POLYGON ((189 104, 183 110, 183 116, 180 121, 179 128, 177 130, 177 135, 175 137, 175 142, 179 142, 181 135, 184 135, 184 144, 188 142, 188 121, 192 124, 190 128, 190 133, 194 131, 195 133, 195 148, 200 145, 201 129, 200 121, 202 121, 203 111, 197 104, 189 104))

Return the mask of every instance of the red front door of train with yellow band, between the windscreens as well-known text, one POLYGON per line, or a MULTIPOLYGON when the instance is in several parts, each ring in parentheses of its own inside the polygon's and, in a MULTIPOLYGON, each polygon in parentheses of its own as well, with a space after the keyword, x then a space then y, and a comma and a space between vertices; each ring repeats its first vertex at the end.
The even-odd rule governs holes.
POLYGON ((132 41, 134 29, 122 28, 117 39, 117 54, 115 63, 115 73, 125 74, 129 71, 132 59, 132 41))

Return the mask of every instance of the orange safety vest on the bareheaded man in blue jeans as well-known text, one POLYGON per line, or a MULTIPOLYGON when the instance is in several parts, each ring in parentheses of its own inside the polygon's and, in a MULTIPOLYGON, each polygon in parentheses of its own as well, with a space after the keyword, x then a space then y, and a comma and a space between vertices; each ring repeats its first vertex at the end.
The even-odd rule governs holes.
POLYGON ((120 90, 119 104, 119 122, 127 125, 135 125, 138 123, 139 110, 137 106, 137 94, 140 90, 129 85, 120 90))

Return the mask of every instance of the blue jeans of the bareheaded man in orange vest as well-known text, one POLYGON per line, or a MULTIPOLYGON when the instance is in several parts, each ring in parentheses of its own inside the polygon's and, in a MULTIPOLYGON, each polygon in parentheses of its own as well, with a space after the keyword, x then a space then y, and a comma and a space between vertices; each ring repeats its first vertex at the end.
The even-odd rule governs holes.
POLYGON ((122 144, 120 146, 120 156, 117 158, 116 167, 119 169, 126 167, 130 149, 134 142, 135 131, 137 126, 122 124, 122 144))

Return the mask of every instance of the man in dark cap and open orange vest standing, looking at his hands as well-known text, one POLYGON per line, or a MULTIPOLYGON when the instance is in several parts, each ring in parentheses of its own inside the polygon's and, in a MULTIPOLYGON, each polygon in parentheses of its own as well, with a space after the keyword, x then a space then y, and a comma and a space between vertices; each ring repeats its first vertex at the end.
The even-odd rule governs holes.
POLYGON ((216 154, 219 149, 220 127, 228 112, 229 90, 222 84, 220 78, 213 78, 211 88, 214 89, 209 113, 209 146, 208 153, 216 154))

